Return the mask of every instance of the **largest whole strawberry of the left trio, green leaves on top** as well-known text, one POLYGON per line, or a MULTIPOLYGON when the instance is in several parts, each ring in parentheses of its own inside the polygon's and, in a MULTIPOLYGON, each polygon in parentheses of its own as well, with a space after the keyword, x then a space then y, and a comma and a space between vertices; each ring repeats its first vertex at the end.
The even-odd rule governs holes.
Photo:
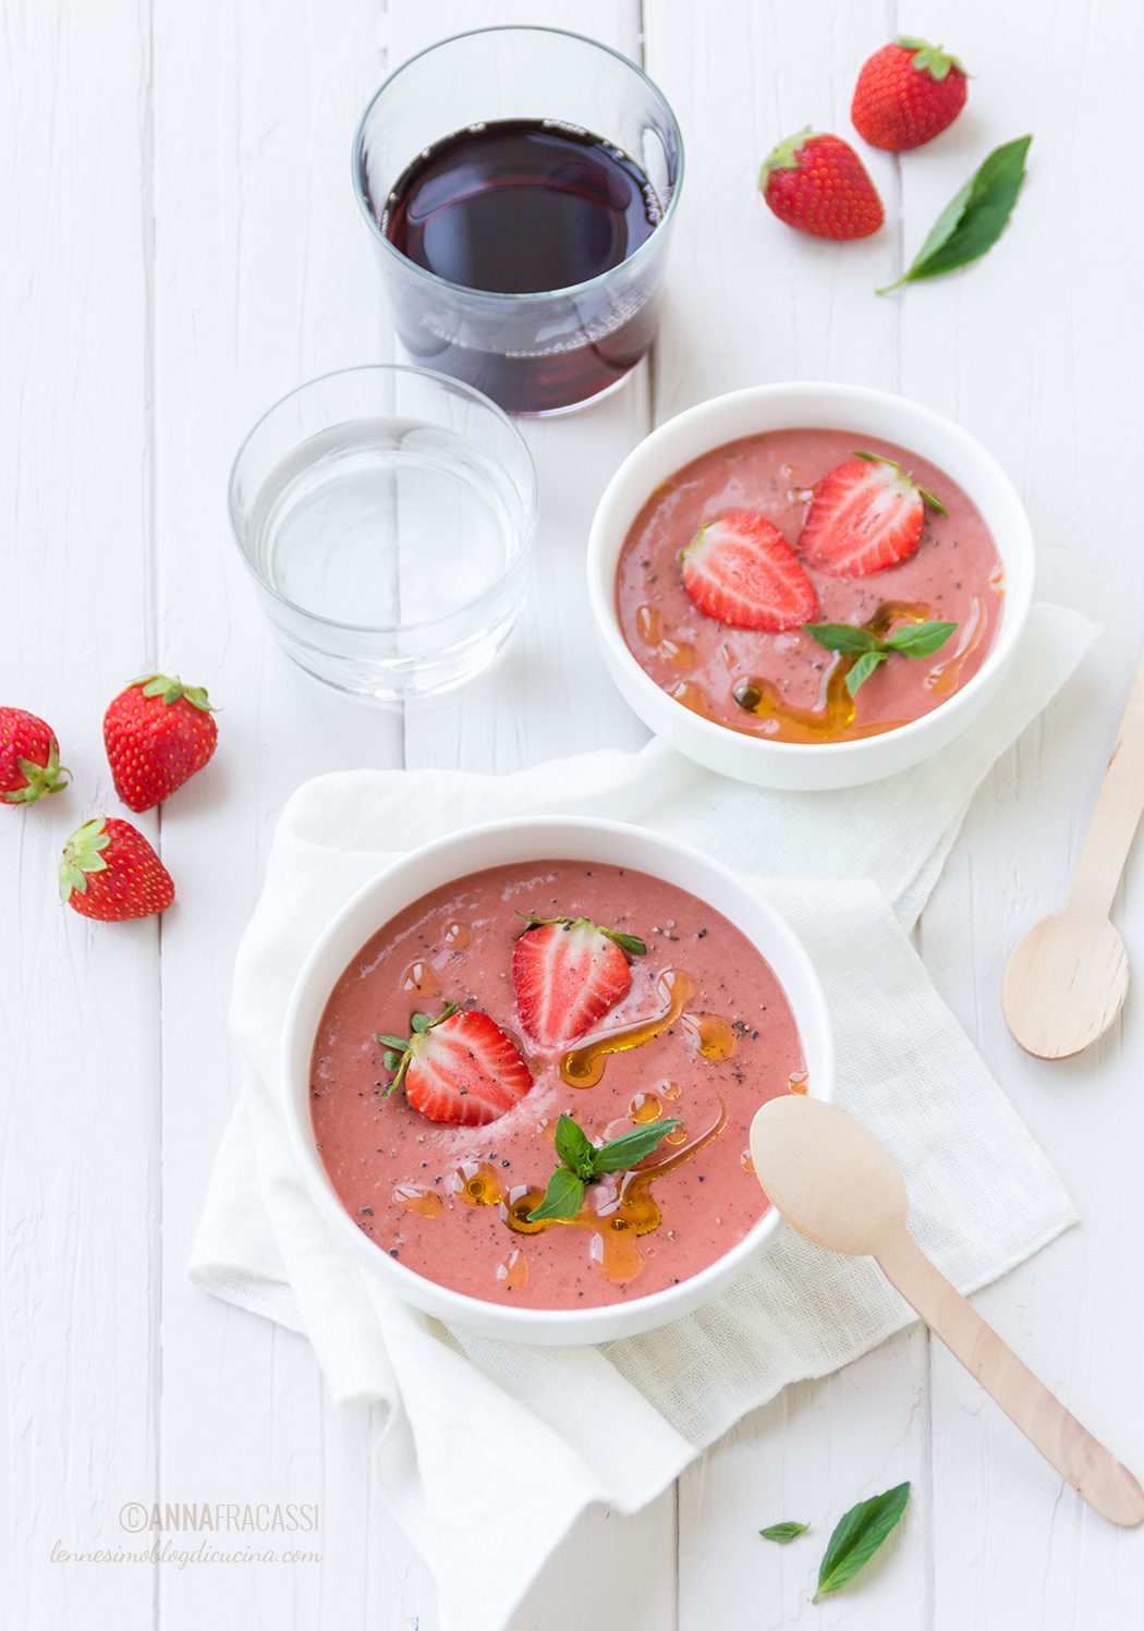
POLYGON ((116 793, 129 811, 149 811, 202 770, 219 740, 201 685, 145 674, 103 716, 103 744, 116 793))

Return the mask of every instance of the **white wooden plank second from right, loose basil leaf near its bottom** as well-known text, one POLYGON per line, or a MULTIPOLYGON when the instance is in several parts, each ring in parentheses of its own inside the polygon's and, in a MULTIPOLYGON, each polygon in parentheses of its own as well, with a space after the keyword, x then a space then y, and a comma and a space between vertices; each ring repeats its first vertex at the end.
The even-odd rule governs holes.
MULTIPOLYGON (((757 194, 770 147, 805 124, 852 137, 854 73, 885 38, 878 3, 757 7, 749 0, 684 18, 650 0, 651 75, 687 142, 669 320, 656 356, 656 414, 739 385, 842 378, 896 388, 898 313, 875 300, 893 264, 898 179, 867 155, 888 227, 831 245, 790 232, 757 194)), ((791 1624, 813 1595, 829 1532, 855 1501, 902 1478, 909 1523, 867 1592, 814 1610, 849 1631, 920 1626, 929 1611, 927 1344, 891 1342, 824 1383, 788 1390, 749 1417, 681 1481, 681 1624, 741 1616, 746 1593, 765 1626, 791 1624), (759 1540, 764 1523, 813 1518, 790 1548, 759 1540), (747 1584, 749 1582, 749 1584, 747 1584), (809 1587, 809 1589, 808 1589, 809 1587)))

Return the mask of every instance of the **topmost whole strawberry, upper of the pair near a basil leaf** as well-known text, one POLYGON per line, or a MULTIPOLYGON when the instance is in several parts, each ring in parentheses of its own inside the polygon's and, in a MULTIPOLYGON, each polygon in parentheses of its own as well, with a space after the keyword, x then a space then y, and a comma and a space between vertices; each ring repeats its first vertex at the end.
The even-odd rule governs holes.
POLYGON ((902 38, 862 65, 850 117, 871 147, 904 153, 953 124, 968 88, 963 64, 942 46, 902 38))

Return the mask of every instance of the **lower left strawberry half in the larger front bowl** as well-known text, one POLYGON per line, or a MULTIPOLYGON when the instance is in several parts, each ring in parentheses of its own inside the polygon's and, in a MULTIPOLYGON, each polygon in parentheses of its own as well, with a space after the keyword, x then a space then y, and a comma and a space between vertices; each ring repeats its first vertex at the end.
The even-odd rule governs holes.
POLYGON ((405 1086, 405 1098, 429 1120, 483 1127, 524 1098, 532 1073, 512 1041, 480 1008, 455 1003, 431 1018, 413 1014, 413 1036, 379 1036, 385 1068, 393 1072, 388 1093, 405 1086))

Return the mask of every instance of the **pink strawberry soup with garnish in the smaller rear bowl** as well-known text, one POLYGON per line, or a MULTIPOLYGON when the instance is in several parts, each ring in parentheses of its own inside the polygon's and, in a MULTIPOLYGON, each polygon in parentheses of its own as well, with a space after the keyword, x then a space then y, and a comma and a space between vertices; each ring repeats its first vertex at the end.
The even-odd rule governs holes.
POLYGON ((849 431, 767 431, 651 494, 617 612, 640 667, 716 724, 782 742, 876 736, 978 672, 1005 592, 969 496, 849 431))

